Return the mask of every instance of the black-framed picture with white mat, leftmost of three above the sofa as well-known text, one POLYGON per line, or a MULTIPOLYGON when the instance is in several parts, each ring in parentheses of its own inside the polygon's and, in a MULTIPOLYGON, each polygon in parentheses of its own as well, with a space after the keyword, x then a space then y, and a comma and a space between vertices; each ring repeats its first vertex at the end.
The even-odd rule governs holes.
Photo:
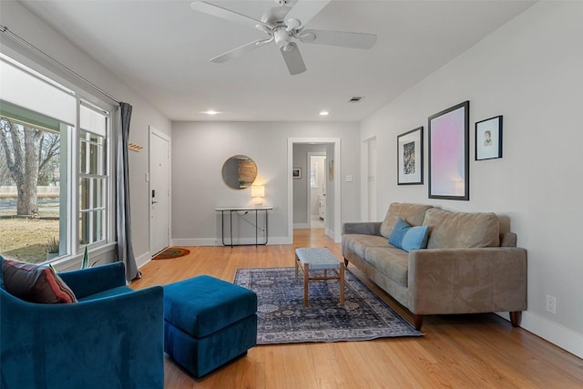
POLYGON ((397 185, 423 184, 423 127, 397 136, 397 185))

